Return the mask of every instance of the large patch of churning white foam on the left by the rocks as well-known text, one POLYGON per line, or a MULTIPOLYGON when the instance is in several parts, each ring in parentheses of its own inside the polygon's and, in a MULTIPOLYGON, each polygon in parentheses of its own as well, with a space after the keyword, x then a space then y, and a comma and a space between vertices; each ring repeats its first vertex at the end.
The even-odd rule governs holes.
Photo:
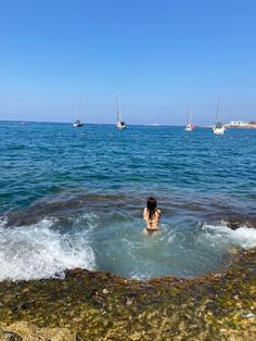
POLYGON ((63 277, 65 269, 92 269, 94 254, 87 231, 62 235, 54 219, 24 227, 0 227, 0 280, 63 277))

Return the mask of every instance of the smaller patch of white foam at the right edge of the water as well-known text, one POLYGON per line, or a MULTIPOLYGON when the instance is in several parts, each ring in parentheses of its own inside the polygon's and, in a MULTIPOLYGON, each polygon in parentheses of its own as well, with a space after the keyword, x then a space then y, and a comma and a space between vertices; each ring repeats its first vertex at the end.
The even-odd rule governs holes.
POLYGON ((205 237, 213 244, 234 244, 244 249, 256 247, 256 229, 241 226, 232 230, 225 225, 204 225, 205 237))

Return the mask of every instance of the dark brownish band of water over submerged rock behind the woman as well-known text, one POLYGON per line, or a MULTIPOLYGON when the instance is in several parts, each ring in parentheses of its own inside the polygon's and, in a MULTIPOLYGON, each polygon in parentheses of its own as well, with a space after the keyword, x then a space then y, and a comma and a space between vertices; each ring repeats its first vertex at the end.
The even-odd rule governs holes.
MULTIPOLYGON (((36 200, 29 206, 7 212, 8 226, 25 226, 36 224, 46 216, 62 217, 73 216, 81 212, 123 212, 142 222, 142 211, 145 200, 154 193, 137 192, 133 189, 127 193, 120 191, 121 187, 114 186, 113 192, 100 193, 100 189, 85 191, 84 189, 63 190, 59 186, 48 188, 51 195, 36 200), (117 191, 115 190, 117 188, 117 191)), ((7 200, 8 198, 5 198, 7 200)), ((172 192, 157 195, 158 206, 162 210, 164 223, 182 224, 185 217, 194 222, 233 222, 231 225, 254 226, 254 215, 249 210, 241 210, 239 202, 227 200, 226 197, 194 197, 193 193, 172 192), (235 223, 236 222, 236 223, 235 223)))

